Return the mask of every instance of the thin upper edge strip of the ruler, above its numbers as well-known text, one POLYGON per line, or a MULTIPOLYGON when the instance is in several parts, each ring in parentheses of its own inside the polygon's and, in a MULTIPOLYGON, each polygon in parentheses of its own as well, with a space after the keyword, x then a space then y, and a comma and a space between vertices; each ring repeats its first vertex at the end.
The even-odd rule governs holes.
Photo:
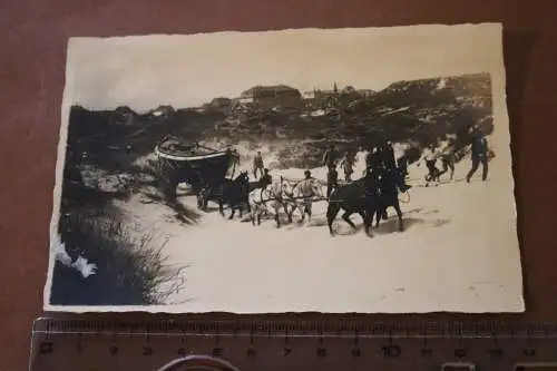
POLYGON ((48 334, 109 334, 109 335, 183 335, 183 336, 258 336, 272 338, 362 338, 362 339, 553 339, 557 338, 557 323, 515 322, 405 322, 384 323, 364 321, 299 321, 299 320, 129 320, 52 318, 42 315, 33 320, 31 342, 48 334), (49 326, 50 324, 50 326, 49 326), (66 325, 65 325, 66 324, 66 325), (61 325, 61 329, 60 329, 61 325), (143 331, 121 331, 130 325, 143 331), (184 326, 197 331, 184 331, 184 326), (223 326, 224 325, 224 326, 223 326), (236 325, 236 328, 235 328, 236 325), (100 326, 105 331, 87 331, 100 326), (182 326, 182 331, 178 331, 182 326), (45 328, 45 329, 43 329, 45 328), (476 331, 470 331, 475 329, 476 331), (74 330, 71 330, 74 329, 74 330), (153 330, 150 330, 153 329, 153 330), (332 330, 335 329, 335 330, 332 330), (367 330, 367 331, 359 331, 367 330), (481 329, 482 331, 479 331, 481 329), (515 332, 514 329, 520 329, 515 332), (290 331, 289 331, 290 330, 290 331), (375 333, 377 330, 377 333, 375 333), (394 330, 394 331, 393 331, 394 330), (411 330, 414 330, 412 333, 411 330), (421 331, 420 331, 421 330, 421 331), (462 331, 468 330, 468 331, 462 331), (504 330, 498 333, 498 330, 504 330), (507 330, 505 332, 505 330, 507 330), (430 331, 428 333, 428 331, 430 331))

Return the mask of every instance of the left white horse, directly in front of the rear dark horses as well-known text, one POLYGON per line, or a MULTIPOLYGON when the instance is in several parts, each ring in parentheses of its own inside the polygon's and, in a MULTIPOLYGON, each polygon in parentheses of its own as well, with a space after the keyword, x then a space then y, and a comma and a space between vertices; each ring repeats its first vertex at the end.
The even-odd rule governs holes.
POLYGON ((287 204, 285 203, 286 193, 289 191, 289 183, 281 177, 281 180, 273 182, 265 188, 256 188, 252 191, 248 195, 250 207, 252 209, 252 224, 261 224, 261 216, 263 214, 268 214, 270 208, 273 209, 274 219, 276 222, 276 227, 281 226, 280 209, 283 207, 284 213, 289 215, 289 219, 292 213, 289 213, 287 204))

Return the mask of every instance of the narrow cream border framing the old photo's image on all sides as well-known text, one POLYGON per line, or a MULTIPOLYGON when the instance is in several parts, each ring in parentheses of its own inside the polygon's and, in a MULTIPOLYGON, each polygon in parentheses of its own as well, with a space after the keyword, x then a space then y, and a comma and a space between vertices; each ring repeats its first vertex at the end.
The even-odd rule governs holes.
MULTIPOLYGON (((514 209, 515 209, 515 232, 517 230, 516 225, 516 199, 515 199, 515 182, 512 177, 512 160, 511 160, 511 152, 510 152, 510 133, 509 133, 509 117, 507 110, 507 95, 506 95, 506 69, 505 69, 505 60, 504 60, 504 46, 502 46, 502 25, 486 22, 486 23, 461 23, 461 25, 413 25, 413 26, 397 26, 397 27, 367 27, 367 28, 336 28, 336 29, 320 29, 320 28, 302 28, 302 29, 285 29, 285 30, 268 30, 268 31, 257 31, 256 33, 264 32, 306 32, 306 31, 320 31, 320 32, 342 32, 342 31, 354 31, 354 30, 398 30, 401 29, 403 31, 417 32, 417 31, 428 31, 431 35, 438 35, 443 31, 444 28, 482 28, 486 32, 486 37, 494 37, 497 39, 498 45, 495 46, 498 49, 494 50, 494 56, 498 56, 497 60, 492 62, 492 68, 488 72, 491 77, 491 89, 492 89, 492 109, 494 109, 494 123, 495 130, 492 135, 492 140, 498 143, 499 152, 498 156, 499 160, 505 159, 505 166, 509 169, 508 182, 509 187, 506 189, 501 189, 501 192, 510 192, 508 199, 512 201, 514 209), (499 128, 498 128, 499 127, 499 128), (505 127, 505 129, 502 129, 505 127), (506 153, 501 153, 504 149, 501 144, 507 144, 506 153)), ((190 35, 160 35, 153 33, 146 36, 128 36, 126 38, 148 38, 148 37, 160 37, 160 36, 199 36, 199 35, 236 35, 236 33, 254 33, 254 32, 244 32, 244 31, 223 31, 223 32, 203 32, 203 33, 190 33, 190 35)), ((116 37, 109 39, 119 39, 124 37, 116 37)), ((88 313, 88 312, 148 312, 148 313, 211 313, 208 312, 188 312, 185 311, 185 305, 52 305, 50 304, 50 294, 51 294, 51 285, 52 285, 52 274, 53 266, 56 262, 56 252, 59 246, 59 237, 58 237, 58 222, 60 217, 60 205, 61 205, 61 188, 62 188, 62 176, 63 176, 63 167, 66 162, 66 146, 67 146, 67 137, 68 137, 68 126, 69 126, 69 114, 70 114, 70 98, 72 96, 71 87, 74 81, 74 75, 71 69, 71 45, 75 40, 79 41, 79 39, 107 39, 107 38, 70 38, 68 42, 68 57, 66 60, 66 84, 63 88, 63 101, 61 107, 61 126, 59 129, 59 141, 58 141, 58 156, 56 163, 56 184, 53 187, 53 207, 52 215, 50 221, 50 241, 49 241, 49 261, 48 261, 48 272, 47 272, 47 281, 43 289, 43 310, 51 312, 72 312, 72 313, 88 313)), ((512 236, 517 238, 517 248, 509 247, 508 253, 515 254, 515 258, 512 262, 516 262, 516 266, 511 267, 516 271, 515 283, 511 283, 516 289, 516 299, 510 297, 501 297, 499 301, 500 305, 490 305, 489 307, 477 307, 476 305, 469 306, 467 303, 437 303, 436 305, 413 305, 412 307, 393 307, 389 311, 370 311, 365 312, 369 314, 394 314, 394 313, 434 313, 434 312, 452 312, 452 313, 521 313, 525 311, 525 302, 524 302, 524 286, 522 286, 522 269, 520 261, 520 251, 518 246, 518 237, 517 234, 512 236)), ((228 312, 228 311, 219 311, 219 312, 228 312, 234 314, 268 314, 268 313, 285 313, 285 312, 261 312, 257 311, 257 305, 254 305, 253 311, 242 311, 242 312, 228 312)), ((319 312, 315 310, 292 310, 286 311, 292 313, 304 313, 304 312, 319 312)), ((345 312, 320 312, 320 313, 353 313, 353 311, 345 312)), ((362 313, 362 312, 358 312, 362 313)))

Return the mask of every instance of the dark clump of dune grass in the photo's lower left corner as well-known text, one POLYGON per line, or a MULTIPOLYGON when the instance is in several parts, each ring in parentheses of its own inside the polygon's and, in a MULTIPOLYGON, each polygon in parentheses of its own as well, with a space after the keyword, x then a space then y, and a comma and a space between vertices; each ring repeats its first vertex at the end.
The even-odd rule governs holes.
POLYGON ((62 216, 60 237, 75 260, 81 255, 97 264, 87 279, 57 262, 51 304, 152 305, 164 304, 185 283, 185 266, 173 266, 163 254, 165 242, 137 234, 119 215, 79 212, 62 216))

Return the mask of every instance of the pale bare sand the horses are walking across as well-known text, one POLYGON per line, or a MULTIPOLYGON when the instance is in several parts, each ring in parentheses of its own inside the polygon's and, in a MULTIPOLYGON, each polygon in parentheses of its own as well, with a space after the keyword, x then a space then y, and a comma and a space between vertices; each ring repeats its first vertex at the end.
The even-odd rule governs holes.
MULTIPOLYGON (((363 170, 363 154, 359 158, 356 174, 363 170)), ((498 187, 507 180, 498 175, 506 173, 497 170, 496 158, 489 182, 481 182, 478 172, 467 184, 469 164, 458 164, 455 182, 437 187, 422 187, 424 166, 411 166, 414 187, 402 204, 405 232, 397 232, 390 209, 372 238, 340 217, 334 225, 339 235, 331 237, 325 202, 314 204, 311 222, 281 228, 273 221, 261 226, 245 217, 227 221, 218 212, 184 226, 168 223, 172 213, 160 205, 131 199, 121 207, 138 227, 169 238, 165 252, 173 262, 189 265, 186 287, 168 303, 187 301, 188 312, 520 310, 521 299, 505 294, 521 285, 515 205, 498 187)), ((273 175, 300 178, 303 170, 273 175)), ((325 179, 324 168, 312 173, 325 179)), ((192 196, 180 202, 195 207, 192 196)), ((361 226, 359 215, 352 219, 361 226)))

